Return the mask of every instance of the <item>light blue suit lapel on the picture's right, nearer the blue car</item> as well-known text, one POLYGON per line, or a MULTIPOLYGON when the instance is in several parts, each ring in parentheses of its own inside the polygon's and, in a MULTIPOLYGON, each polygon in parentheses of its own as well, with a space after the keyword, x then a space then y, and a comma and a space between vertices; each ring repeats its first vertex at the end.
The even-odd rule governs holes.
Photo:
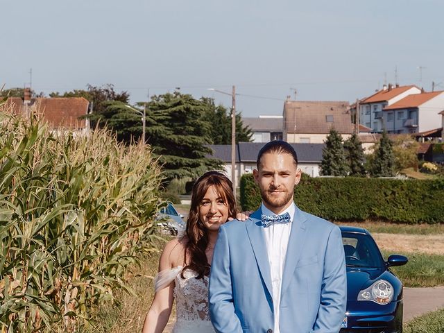
POLYGON ((285 256, 281 295, 283 295, 289 287, 291 277, 296 269, 296 264, 298 264, 300 253, 302 252, 302 248, 304 248, 305 239, 307 239, 307 235, 305 234, 306 221, 307 219, 302 214, 301 210, 296 207, 293 222, 291 222, 291 232, 289 237, 289 245, 287 246, 287 255, 285 256))

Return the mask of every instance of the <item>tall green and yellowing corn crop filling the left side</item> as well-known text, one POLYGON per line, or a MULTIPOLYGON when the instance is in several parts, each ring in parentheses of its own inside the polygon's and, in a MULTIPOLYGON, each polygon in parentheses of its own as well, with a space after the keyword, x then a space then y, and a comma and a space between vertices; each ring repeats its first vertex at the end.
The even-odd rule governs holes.
POLYGON ((153 250, 161 173, 106 130, 54 133, 0 106, 0 327, 83 325, 153 250))

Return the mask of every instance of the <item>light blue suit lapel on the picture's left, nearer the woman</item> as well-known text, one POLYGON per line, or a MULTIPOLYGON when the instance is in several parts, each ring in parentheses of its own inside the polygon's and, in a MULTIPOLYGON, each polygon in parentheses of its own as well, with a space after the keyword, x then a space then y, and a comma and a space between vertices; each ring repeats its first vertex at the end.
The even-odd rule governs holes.
POLYGON ((261 273, 262 280, 268 289, 270 296, 273 296, 273 289, 271 286, 271 272, 268 264, 268 253, 266 251, 266 242, 264 237, 264 227, 261 223, 262 210, 259 208, 256 212, 251 214, 250 220, 246 221, 246 228, 250 244, 255 253, 257 266, 261 273))

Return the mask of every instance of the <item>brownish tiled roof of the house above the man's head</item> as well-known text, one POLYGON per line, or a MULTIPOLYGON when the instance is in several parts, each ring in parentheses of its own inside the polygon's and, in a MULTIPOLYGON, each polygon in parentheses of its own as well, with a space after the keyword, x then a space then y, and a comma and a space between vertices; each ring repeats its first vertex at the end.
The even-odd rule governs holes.
POLYGON ((286 101, 284 128, 287 133, 327 134, 334 128, 341 134, 352 134, 350 105, 343 101, 286 101), (333 116, 328 122, 327 116, 333 116))

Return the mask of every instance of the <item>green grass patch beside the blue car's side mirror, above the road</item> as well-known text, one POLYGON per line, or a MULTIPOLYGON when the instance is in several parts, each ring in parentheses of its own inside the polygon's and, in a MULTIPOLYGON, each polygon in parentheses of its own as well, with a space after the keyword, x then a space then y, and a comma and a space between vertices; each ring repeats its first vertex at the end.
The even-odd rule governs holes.
MULTIPOLYGON (((404 283, 404 287, 444 286, 444 255, 422 253, 398 253, 409 258, 404 266, 391 268, 404 283)), ((386 259, 391 253, 383 251, 386 259)))

